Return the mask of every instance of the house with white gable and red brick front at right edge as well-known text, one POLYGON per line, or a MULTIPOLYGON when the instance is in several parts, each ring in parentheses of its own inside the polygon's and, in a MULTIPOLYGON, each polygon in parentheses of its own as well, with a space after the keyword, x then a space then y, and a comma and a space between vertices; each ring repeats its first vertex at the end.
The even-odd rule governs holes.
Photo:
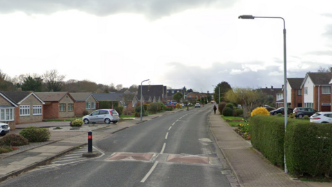
POLYGON ((301 84, 302 106, 321 112, 330 112, 331 79, 331 72, 306 73, 306 77, 301 84))

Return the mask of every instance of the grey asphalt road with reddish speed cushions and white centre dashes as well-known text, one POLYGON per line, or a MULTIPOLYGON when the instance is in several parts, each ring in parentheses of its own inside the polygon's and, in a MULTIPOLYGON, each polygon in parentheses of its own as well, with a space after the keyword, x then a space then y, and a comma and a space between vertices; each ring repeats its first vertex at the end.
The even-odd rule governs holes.
POLYGON ((230 186, 209 134, 211 111, 154 118, 95 143, 98 158, 75 159, 72 152, 0 186, 230 186))

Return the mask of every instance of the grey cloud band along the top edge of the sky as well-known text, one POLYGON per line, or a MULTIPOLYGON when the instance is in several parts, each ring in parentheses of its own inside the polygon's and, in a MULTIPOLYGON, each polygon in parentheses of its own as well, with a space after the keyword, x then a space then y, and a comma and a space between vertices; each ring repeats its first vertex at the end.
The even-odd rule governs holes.
POLYGON ((62 10, 81 10, 97 16, 118 12, 140 13, 156 19, 199 6, 226 8, 237 1, 232 0, 0 0, 0 12, 23 11, 27 14, 51 14, 62 10))

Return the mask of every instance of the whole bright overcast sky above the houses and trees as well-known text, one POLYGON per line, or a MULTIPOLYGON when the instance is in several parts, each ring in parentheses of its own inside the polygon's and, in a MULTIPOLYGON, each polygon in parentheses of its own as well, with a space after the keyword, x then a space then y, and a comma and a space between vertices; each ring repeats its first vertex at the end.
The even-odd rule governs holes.
POLYGON ((0 69, 210 91, 284 84, 332 66, 332 1, 0 0, 0 69))

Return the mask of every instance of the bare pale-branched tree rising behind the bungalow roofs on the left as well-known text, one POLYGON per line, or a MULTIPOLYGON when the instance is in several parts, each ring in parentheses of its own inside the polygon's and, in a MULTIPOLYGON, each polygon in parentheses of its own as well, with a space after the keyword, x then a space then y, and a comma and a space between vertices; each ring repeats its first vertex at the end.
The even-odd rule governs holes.
POLYGON ((46 71, 43 75, 47 91, 61 91, 65 75, 59 75, 56 69, 46 71))

